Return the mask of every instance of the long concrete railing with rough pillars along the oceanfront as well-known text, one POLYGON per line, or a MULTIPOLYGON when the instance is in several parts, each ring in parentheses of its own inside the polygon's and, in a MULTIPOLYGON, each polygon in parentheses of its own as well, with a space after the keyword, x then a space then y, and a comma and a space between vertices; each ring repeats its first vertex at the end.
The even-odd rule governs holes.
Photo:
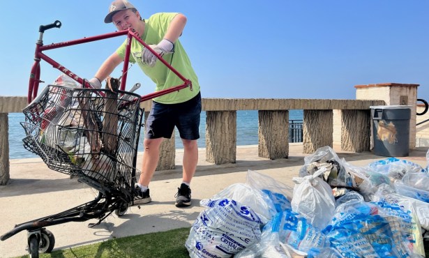
MULTIPOLYGON (((278 159, 289 155, 289 110, 303 109, 303 153, 333 146, 340 135, 344 151, 370 151, 370 106, 384 100, 225 99, 204 98, 206 111, 206 161, 216 165, 236 162, 236 111, 258 110, 259 157, 278 159), (340 126, 333 123, 339 111, 340 126), (336 126, 334 126, 336 125, 336 126)), ((8 113, 22 112, 26 97, 0 96, 0 185, 9 179, 8 113)), ((142 103, 145 118, 151 102, 142 103)), ((158 170, 174 169, 174 134, 161 145, 158 170)))

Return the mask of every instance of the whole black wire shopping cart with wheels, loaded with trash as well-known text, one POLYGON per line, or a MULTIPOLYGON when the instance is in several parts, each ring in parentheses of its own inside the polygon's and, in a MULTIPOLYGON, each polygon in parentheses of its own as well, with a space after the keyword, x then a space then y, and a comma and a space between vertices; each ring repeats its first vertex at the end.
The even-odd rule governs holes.
POLYGON ((39 155, 50 169, 95 188, 98 197, 68 211, 15 225, 0 237, 2 241, 27 229, 29 252, 38 256, 38 251, 54 248, 47 226, 98 219, 92 227, 112 212, 126 213, 134 197, 143 114, 140 98, 126 91, 57 85, 40 92, 23 110, 25 149, 39 155))

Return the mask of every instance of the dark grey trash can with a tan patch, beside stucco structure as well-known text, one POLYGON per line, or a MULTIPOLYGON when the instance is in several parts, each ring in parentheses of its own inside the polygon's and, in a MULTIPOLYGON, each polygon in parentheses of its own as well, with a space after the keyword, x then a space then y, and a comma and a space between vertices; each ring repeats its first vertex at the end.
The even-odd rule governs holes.
POLYGON ((374 154, 385 157, 409 155, 411 106, 371 106, 374 154))

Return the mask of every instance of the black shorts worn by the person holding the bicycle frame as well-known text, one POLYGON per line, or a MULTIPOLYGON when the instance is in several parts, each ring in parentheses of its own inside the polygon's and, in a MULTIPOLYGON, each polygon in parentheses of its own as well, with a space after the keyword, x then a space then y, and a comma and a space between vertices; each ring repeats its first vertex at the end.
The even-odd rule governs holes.
POLYGON ((152 102, 146 120, 144 137, 170 139, 176 126, 182 139, 200 138, 201 94, 184 103, 161 104, 152 102))

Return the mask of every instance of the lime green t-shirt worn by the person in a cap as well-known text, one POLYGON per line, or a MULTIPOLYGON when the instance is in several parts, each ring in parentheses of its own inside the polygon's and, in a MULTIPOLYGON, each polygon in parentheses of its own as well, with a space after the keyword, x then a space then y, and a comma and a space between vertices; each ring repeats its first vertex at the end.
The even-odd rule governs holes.
MULTIPOLYGON (((177 15, 177 13, 156 13, 149 17, 148 20, 145 20, 146 25, 143 35, 140 37, 144 43, 148 45, 158 44, 165 33, 167 28, 170 25, 170 22, 177 15)), ((172 86, 178 86, 183 84, 183 81, 177 77, 167 66, 165 66, 161 61, 156 61, 156 65, 153 67, 147 66, 142 63, 142 50, 143 45, 137 42, 137 40, 131 41, 131 54, 130 62, 138 63, 143 72, 152 79, 156 84, 155 91, 161 91, 163 89, 171 88, 172 86)), ((116 50, 116 53, 119 54, 122 58, 125 56, 126 50, 126 40, 124 43, 116 50)), ((192 82, 193 90, 190 90, 190 87, 181 89, 180 91, 174 91, 172 93, 165 94, 154 98, 158 103, 163 104, 176 104, 183 103, 186 100, 197 96, 200 92, 200 84, 198 83, 197 75, 195 74, 194 69, 190 64, 188 54, 186 54, 183 46, 179 40, 176 40, 174 43, 174 53, 165 54, 163 59, 170 63, 170 65, 176 69, 183 77, 190 79, 192 82)))

